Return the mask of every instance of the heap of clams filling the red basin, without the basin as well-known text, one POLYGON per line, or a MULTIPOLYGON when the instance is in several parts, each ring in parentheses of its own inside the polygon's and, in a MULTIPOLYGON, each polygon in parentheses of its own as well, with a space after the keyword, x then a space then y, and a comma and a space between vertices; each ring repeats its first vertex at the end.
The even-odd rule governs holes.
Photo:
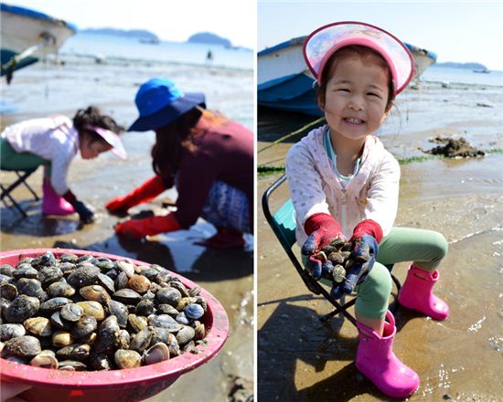
POLYGON ((159 265, 50 251, 0 267, 0 346, 7 360, 112 370, 198 353, 207 303, 159 265))

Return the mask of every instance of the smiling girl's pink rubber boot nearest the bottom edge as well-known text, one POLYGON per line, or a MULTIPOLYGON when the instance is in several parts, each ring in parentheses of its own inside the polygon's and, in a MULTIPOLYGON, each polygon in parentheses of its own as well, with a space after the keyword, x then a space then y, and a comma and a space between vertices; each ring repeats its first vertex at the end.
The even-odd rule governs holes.
POLYGON ((388 397, 410 397, 419 386, 419 376, 393 353, 395 319, 386 312, 382 337, 368 326, 357 322, 359 345, 356 365, 388 397))

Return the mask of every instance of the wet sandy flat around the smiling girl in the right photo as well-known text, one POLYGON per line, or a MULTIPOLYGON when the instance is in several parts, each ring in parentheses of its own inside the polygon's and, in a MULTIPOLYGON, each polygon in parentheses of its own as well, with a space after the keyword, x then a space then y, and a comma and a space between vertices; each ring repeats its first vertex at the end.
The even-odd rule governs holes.
MULTIPOLYGON (((485 150, 500 148, 503 92, 491 89, 488 95, 499 105, 498 113, 496 106, 473 108, 472 102, 484 101, 488 92, 480 87, 471 90, 473 98, 468 96, 451 106, 444 99, 455 98, 462 90, 426 84, 421 93, 406 91, 409 120, 404 119, 402 103, 401 132, 386 131, 385 127, 383 143, 397 158, 420 155, 417 148, 428 143, 428 138, 448 133, 463 133, 470 143, 485 150)), ((258 149, 303 123, 274 135, 273 124, 261 124, 259 117, 258 149)), ((284 155, 294 141, 298 138, 259 153, 258 164, 284 164, 284 155)), ((437 230, 449 242, 435 292, 449 303, 451 316, 435 322, 400 306, 395 314, 398 333, 394 352, 421 378, 411 401, 503 400, 502 172, 501 153, 401 165, 395 225, 437 230)), ((259 179, 259 199, 277 177, 259 179)), ((280 187, 272 198, 273 210, 288 197, 286 186, 280 187)), ((354 365, 356 328, 338 316, 326 324, 319 322, 318 317, 330 312, 331 305, 305 288, 262 210, 257 217, 259 400, 388 400, 354 365)), ((294 252, 299 254, 297 246, 294 252)), ((401 281, 407 266, 401 263, 393 268, 401 281)), ((394 298, 396 289, 392 292, 394 298)))

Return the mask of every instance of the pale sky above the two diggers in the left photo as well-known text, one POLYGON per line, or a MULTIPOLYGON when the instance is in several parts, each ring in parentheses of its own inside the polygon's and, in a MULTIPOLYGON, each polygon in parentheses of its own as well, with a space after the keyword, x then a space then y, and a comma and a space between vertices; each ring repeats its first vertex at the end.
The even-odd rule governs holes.
POLYGON ((211 32, 233 46, 255 48, 257 38, 255 0, 6 0, 5 4, 31 8, 79 29, 146 29, 173 42, 211 32))

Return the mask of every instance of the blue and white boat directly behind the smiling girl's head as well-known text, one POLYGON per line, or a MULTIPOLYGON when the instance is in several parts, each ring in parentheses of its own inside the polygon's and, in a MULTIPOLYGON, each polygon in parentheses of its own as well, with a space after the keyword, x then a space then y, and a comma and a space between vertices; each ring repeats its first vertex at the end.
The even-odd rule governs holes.
MULTIPOLYGON (((306 68, 302 46, 306 37, 294 37, 258 53, 258 104, 283 111, 321 116, 312 90, 314 77, 306 68)), ((416 76, 435 63, 436 55, 405 44, 414 57, 416 76)))

